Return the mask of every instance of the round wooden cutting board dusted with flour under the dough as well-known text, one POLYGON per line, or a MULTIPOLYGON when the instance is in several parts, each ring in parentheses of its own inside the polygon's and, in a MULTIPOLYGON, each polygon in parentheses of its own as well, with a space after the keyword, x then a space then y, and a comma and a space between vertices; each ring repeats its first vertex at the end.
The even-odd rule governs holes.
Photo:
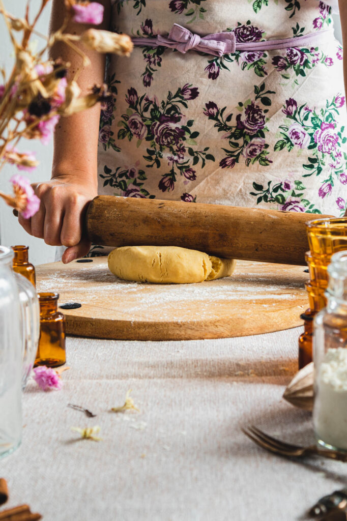
POLYGON ((118 279, 107 257, 36 267, 39 292, 60 294, 67 333, 121 340, 243 337, 302 325, 308 307, 303 266, 238 261, 232 277, 198 284, 118 279))

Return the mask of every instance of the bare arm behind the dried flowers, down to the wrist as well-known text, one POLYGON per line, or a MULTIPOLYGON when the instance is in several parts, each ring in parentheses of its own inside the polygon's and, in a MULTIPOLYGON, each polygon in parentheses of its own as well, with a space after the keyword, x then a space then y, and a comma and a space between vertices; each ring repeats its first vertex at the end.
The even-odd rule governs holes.
MULTIPOLYGON (((104 5, 104 21, 98 28, 108 29, 109 0, 98 0, 104 5)), ((51 31, 61 27, 65 18, 64 0, 53 0, 51 31)), ((88 26, 70 23, 66 32, 80 34, 88 26)), ((78 84, 82 94, 86 94, 94 84, 102 84, 105 72, 105 56, 94 51, 88 51, 77 44, 88 56, 91 65, 82 68, 78 76, 78 84)), ((82 67, 81 57, 64 43, 56 44, 52 49, 52 57, 63 58, 71 64, 68 75, 73 77, 82 67)), ((100 105, 82 113, 60 118, 54 135, 54 156, 52 177, 71 175, 84 182, 96 185, 97 169, 97 139, 100 119, 100 105)))

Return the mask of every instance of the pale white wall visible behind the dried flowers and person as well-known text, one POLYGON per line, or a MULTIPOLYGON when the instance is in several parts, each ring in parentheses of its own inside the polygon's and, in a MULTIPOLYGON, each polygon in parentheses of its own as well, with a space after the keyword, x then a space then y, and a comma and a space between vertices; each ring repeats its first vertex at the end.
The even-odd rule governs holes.
MULTIPOLYGON (((27 0, 4 0, 5 8, 16 16, 23 16, 24 8, 27 0)), ((33 12, 41 4, 39 0, 32 0, 31 7, 33 12)), ((43 34, 47 34, 48 20, 49 20, 49 6, 41 17, 38 30, 43 34)), ((0 17, 2 18, 2 17, 0 17)), ((336 34, 337 38, 341 41, 341 27, 339 17, 335 16, 336 34)), ((39 41, 39 39, 38 39, 39 41)), ((41 44, 41 42, 40 42, 41 44)), ((3 20, 0 20, 0 63, 5 66, 5 69, 9 71, 13 63, 13 50, 9 39, 7 38, 7 31, 3 20)), ((41 145, 40 142, 31 140, 30 142, 25 141, 21 144, 21 149, 32 150, 36 152, 36 157, 40 160, 39 167, 34 170, 33 173, 29 174, 35 181, 45 181, 51 177, 51 165, 52 165, 52 143, 48 146, 41 145)), ((0 174, 0 190, 3 192, 10 193, 11 187, 9 178, 15 173, 16 167, 8 165, 0 174)), ((47 262, 53 262, 55 257, 55 247, 47 246, 43 240, 35 239, 28 235, 18 224, 18 220, 13 216, 11 208, 9 208, 3 201, 0 201, 0 243, 6 246, 13 244, 26 244, 29 245, 30 260, 33 264, 41 264, 47 262)))

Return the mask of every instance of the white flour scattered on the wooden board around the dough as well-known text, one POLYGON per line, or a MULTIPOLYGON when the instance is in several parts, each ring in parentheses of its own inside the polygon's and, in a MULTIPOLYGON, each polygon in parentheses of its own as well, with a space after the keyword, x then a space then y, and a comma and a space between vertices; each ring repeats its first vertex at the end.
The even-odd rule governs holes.
MULTIPOLYGON (((260 263, 258 263, 260 264, 260 263)), ((66 271, 52 272, 45 274, 45 280, 39 277, 38 291, 57 291, 61 293, 63 299, 68 295, 69 301, 83 303, 95 302, 100 299, 102 294, 103 301, 107 302, 108 297, 112 297, 110 306, 113 305, 114 297, 123 297, 121 301, 121 311, 130 313, 133 320, 138 318, 137 313, 144 312, 145 309, 160 306, 160 314, 165 318, 165 304, 168 304, 170 319, 182 319, 182 315, 173 317, 172 305, 175 304, 177 311, 189 302, 199 307, 200 318, 210 315, 213 304, 220 301, 242 301, 256 302, 261 300, 263 307, 272 307, 274 300, 295 300, 303 294, 304 280, 294 279, 285 281, 279 280, 276 284, 267 275, 255 275, 254 272, 242 271, 242 265, 232 277, 225 279, 200 282, 195 284, 144 284, 142 282, 128 282, 118 279, 108 270, 107 263, 104 265, 95 263, 79 267, 78 272, 66 271), (240 269, 241 268, 241 269, 240 269), (272 283, 271 283, 272 282, 272 283), (79 294, 83 294, 79 300, 79 294), (127 297, 136 296, 136 303, 131 298, 127 302, 127 297), (266 303, 266 301, 272 301, 266 303)), ((61 299, 60 299, 61 302, 61 299)), ((131 317, 129 317, 132 320, 131 317)))

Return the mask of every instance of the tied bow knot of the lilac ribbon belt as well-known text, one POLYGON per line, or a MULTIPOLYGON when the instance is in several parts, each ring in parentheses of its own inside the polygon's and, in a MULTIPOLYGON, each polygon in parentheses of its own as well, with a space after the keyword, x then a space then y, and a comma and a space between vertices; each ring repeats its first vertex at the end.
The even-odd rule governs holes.
POLYGON ((234 53, 236 48, 236 39, 233 32, 208 34, 201 37, 199 34, 194 34, 189 29, 179 26, 178 23, 173 24, 168 38, 158 34, 157 42, 158 45, 177 49, 182 54, 194 49, 194 51, 214 56, 223 56, 224 54, 234 53))

